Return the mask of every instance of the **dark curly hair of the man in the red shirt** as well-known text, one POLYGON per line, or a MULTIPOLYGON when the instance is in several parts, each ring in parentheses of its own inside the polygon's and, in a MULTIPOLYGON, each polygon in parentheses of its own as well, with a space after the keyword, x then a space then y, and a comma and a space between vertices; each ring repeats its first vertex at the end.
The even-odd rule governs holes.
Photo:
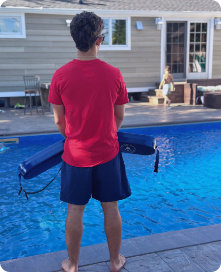
POLYGON ((104 21, 93 12, 83 11, 76 14, 71 22, 71 36, 75 41, 76 47, 87 52, 104 29, 104 21))

